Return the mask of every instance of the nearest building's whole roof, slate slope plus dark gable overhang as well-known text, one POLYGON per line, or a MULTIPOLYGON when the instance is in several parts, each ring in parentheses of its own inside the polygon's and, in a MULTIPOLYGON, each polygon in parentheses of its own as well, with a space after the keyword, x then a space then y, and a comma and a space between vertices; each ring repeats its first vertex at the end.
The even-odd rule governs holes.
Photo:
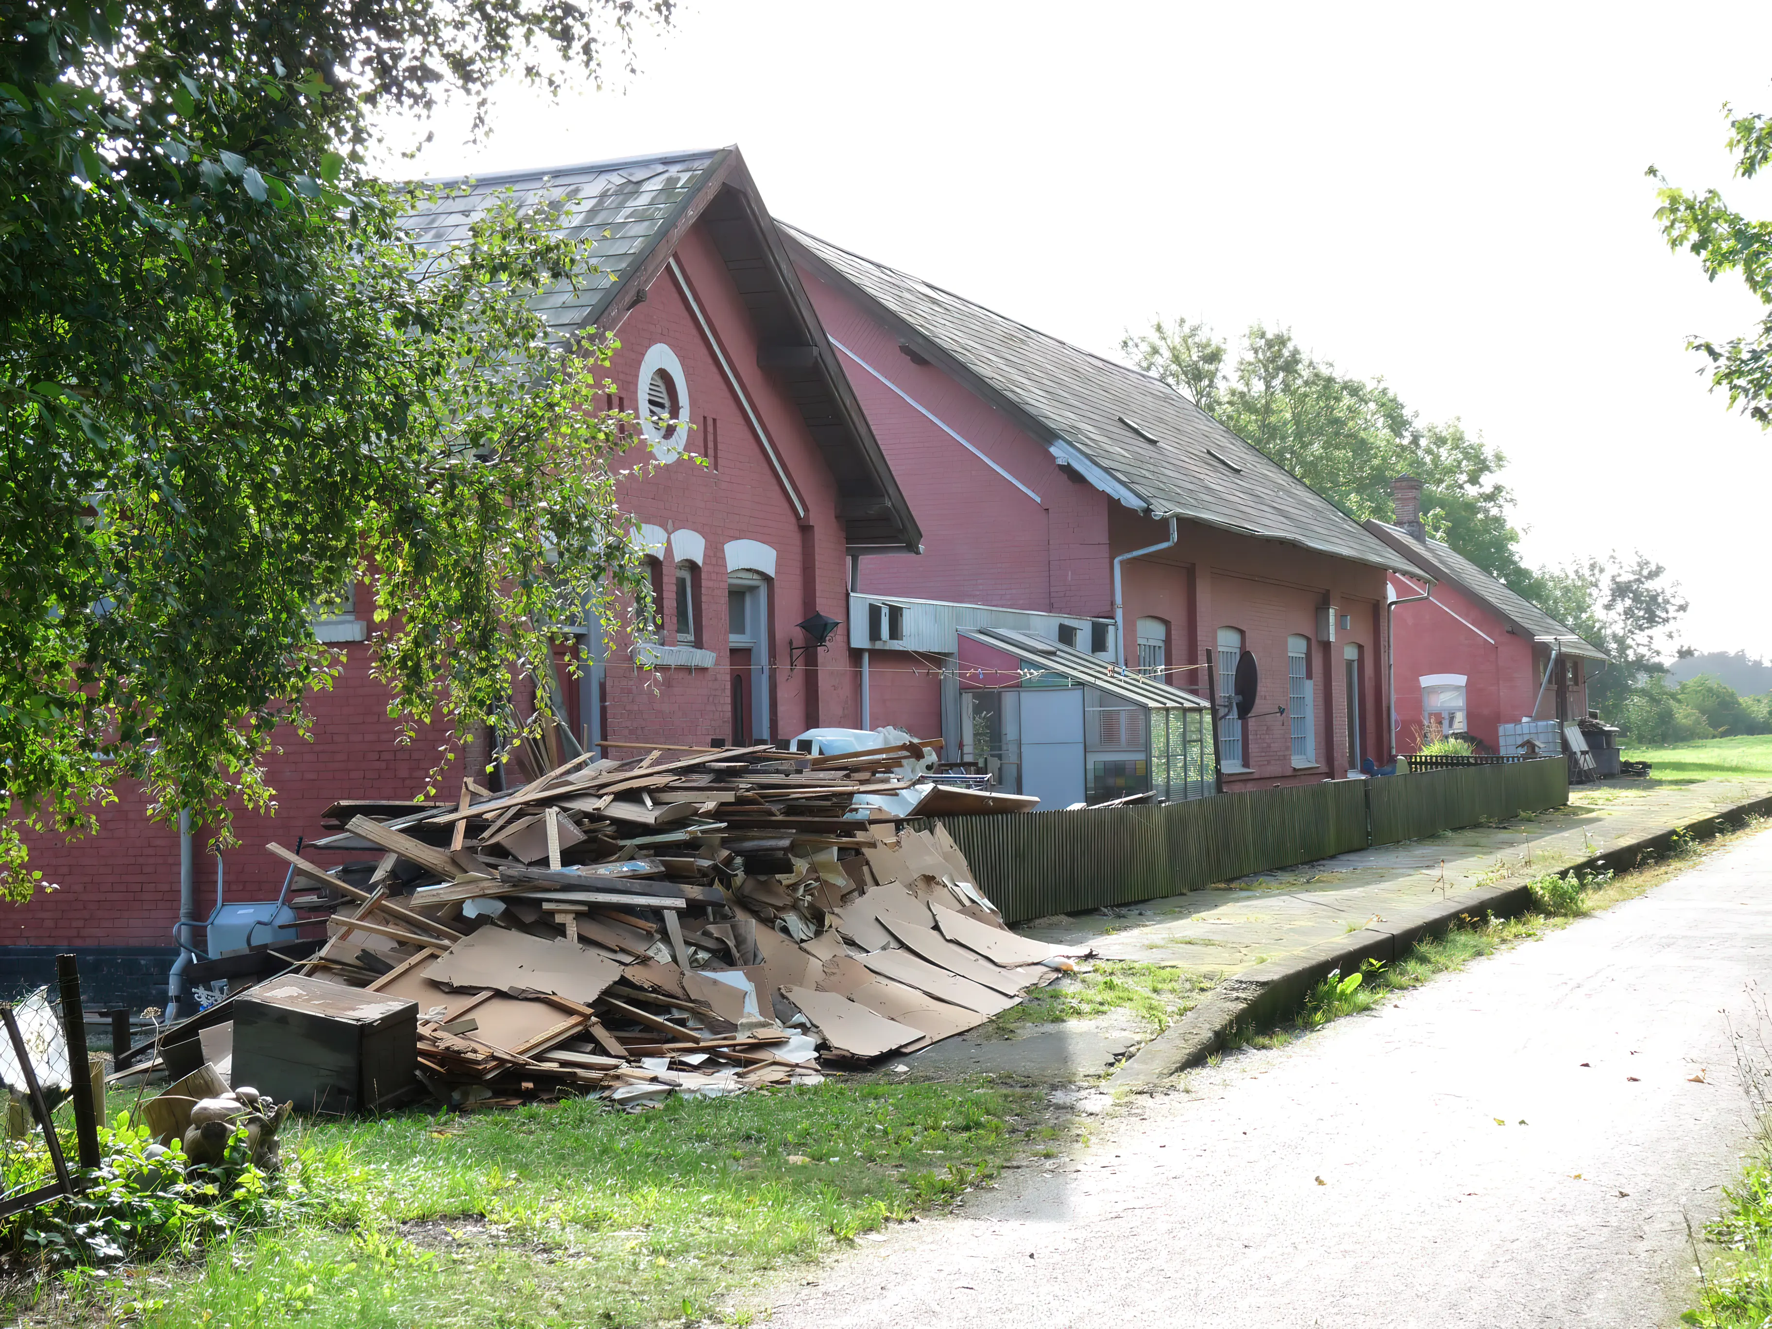
POLYGON ((560 230, 592 241, 590 257, 601 271, 533 298, 562 338, 594 328, 613 331, 664 271, 684 232, 700 223, 744 301, 758 354, 774 354, 767 367, 758 360, 734 372, 741 379, 774 376, 797 409, 836 480, 849 551, 921 551, 916 517, 737 147, 431 183, 457 188, 411 213, 404 225, 436 262, 447 262, 475 218, 505 197, 521 209, 555 209, 560 230))

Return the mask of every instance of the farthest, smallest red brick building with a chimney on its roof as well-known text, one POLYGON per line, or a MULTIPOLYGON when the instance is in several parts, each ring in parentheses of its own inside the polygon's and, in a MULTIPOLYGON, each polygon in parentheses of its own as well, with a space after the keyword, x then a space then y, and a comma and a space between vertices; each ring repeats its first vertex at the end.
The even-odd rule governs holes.
POLYGON ((1430 540, 1419 480, 1400 477, 1393 493, 1396 525, 1366 528, 1414 565, 1391 576, 1398 750, 1416 751, 1430 718, 1442 734, 1471 734, 1488 751, 1512 751, 1503 725, 1586 716, 1588 672, 1604 666, 1605 654, 1457 549, 1430 540))

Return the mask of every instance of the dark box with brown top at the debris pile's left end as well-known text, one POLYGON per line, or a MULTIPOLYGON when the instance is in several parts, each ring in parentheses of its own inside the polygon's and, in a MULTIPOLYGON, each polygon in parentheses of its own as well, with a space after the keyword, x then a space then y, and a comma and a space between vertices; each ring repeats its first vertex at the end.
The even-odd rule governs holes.
POLYGON ((416 1001, 289 976, 234 1003, 234 1084, 299 1113, 392 1108, 413 1090, 416 1067, 416 1001))

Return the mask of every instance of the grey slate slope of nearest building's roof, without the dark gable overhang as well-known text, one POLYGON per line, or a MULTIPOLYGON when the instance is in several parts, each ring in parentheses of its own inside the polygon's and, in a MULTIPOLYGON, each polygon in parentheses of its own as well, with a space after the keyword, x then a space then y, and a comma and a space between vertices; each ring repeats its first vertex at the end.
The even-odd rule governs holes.
POLYGON ((509 197, 517 207, 549 206, 572 239, 595 241, 594 260, 602 269, 535 298, 555 333, 572 335, 597 324, 615 301, 622 278, 638 271, 654 243, 688 211, 689 200, 728 151, 675 152, 624 161, 588 161, 548 170, 512 170, 491 175, 432 179, 459 186, 448 197, 413 213, 406 227, 418 243, 445 255, 468 237, 468 227, 494 202, 509 197), (604 236, 602 232, 608 232, 604 236))

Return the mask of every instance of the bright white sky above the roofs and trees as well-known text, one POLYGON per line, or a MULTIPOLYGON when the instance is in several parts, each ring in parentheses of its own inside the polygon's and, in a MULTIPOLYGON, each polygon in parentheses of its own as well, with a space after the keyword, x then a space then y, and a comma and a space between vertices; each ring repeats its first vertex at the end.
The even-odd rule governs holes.
POLYGON ((429 175, 739 144, 769 207, 1093 351, 1152 315, 1288 324, 1508 455, 1527 562, 1643 549, 1701 650, 1772 656, 1772 436, 1689 333, 1760 307, 1653 223, 1660 167, 1758 216, 1722 101, 1772 7, 686 4, 640 74, 429 175))

